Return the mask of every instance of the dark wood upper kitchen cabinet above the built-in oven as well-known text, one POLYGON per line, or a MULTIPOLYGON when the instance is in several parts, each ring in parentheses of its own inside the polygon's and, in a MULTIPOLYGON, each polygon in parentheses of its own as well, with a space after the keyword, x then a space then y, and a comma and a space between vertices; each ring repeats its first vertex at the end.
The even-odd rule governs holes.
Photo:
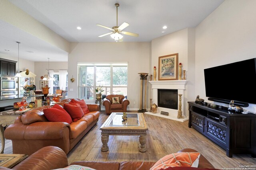
POLYGON ((16 61, 7 59, 0 59, 0 75, 1 76, 15 76, 16 61))

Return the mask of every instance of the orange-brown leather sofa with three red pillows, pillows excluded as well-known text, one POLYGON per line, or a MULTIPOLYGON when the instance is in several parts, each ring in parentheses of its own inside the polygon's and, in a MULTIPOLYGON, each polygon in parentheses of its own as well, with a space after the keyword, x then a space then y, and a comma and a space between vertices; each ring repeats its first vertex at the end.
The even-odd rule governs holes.
MULTIPOLYGON (((63 106, 71 100, 65 99, 58 104, 63 106)), ((100 107, 97 104, 87 104, 87 106, 90 112, 71 124, 48 121, 43 110, 52 106, 32 109, 17 117, 14 124, 4 131, 4 137, 12 140, 14 154, 31 155, 46 146, 60 147, 68 154, 98 121, 100 107)))

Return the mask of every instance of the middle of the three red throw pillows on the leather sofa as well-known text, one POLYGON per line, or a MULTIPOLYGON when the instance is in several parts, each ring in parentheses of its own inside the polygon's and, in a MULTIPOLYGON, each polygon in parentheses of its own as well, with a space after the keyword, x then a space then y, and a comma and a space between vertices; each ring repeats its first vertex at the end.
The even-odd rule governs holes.
POLYGON ((64 109, 71 116, 72 121, 78 121, 84 116, 84 112, 78 103, 64 104, 64 109))

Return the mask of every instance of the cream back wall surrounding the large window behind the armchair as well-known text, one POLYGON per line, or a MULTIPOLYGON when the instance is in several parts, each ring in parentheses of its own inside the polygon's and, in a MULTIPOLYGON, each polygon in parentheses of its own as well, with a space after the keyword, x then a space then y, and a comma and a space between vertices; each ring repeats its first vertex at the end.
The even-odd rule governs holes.
MULTIPOLYGON (((138 73, 149 72, 150 43, 71 43, 70 49, 68 78, 73 76, 76 81, 68 84, 69 98, 77 98, 77 62, 128 62, 127 98, 130 101, 128 109, 139 108, 140 76, 138 73), (70 91, 70 89, 74 91, 70 91)), ((149 102, 147 105, 149 106, 149 102)))

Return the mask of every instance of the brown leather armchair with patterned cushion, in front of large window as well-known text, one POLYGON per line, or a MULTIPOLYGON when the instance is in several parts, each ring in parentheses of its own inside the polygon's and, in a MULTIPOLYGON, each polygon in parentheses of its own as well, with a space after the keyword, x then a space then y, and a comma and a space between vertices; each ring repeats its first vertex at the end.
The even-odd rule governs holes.
MULTIPOLYGON (((115 103, 115 102, 114 102, 115 103)), ((105 106, 106 114, 111 114, 112 112, 126 112, 127 106, 130 104, 129 100, 127 100, 123 95, 120 94, 110 94, 106 96, 103 100, 103 106, 105 106), (119 99, 119 104, 113 104, 113 98, 119 99)))

